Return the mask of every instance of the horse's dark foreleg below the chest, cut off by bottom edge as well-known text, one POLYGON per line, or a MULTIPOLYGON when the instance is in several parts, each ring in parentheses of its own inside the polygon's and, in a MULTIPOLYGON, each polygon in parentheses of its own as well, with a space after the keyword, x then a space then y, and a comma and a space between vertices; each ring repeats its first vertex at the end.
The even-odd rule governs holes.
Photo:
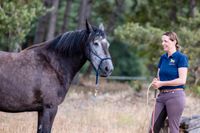
POLYGON ((54 118, 58 107, 44 108, 38 111, 38 128, 37 133, 51 133, 54 118))

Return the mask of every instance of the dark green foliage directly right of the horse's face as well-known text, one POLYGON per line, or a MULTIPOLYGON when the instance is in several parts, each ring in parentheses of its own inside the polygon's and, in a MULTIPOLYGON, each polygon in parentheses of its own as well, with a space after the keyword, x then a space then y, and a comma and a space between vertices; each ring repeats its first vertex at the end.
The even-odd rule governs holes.
POLYGON ((135 50, 130 45, 115 40, 110 52, 115 67, 112 75, 141 76, 146 72, 143 61, 134 54, 135 50))

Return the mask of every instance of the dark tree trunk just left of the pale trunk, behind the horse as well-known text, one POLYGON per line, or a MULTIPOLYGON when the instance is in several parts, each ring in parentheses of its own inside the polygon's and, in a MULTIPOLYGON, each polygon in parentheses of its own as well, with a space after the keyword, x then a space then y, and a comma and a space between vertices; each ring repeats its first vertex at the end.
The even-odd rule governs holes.
MULTIPOLYGON (((44 6, 49 8, 52 6, 52 0, 44 0, 44 6)), ((47 33, 47 26, 49 21, 49 13, 46 13, 44 16, 41 16, 38 20, 35 37, 34 37, 34 44, 41 43, 46 40, 46 33, 47 33)))

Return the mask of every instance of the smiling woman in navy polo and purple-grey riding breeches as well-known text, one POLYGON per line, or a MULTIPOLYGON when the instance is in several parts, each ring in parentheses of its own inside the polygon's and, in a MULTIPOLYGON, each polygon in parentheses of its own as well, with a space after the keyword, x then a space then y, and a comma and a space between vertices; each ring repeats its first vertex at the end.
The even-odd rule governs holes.
POLYGON ((188 58, 179 51, 176 33, 162 35, 162 46, 166 52, 158 64, 158 77, 152 86, 160 91, 152 115, 150 132, 159 133, 166 117, 170 133, 179 133, 180 118, 185 106, 184 85, 188 71, 188 58))

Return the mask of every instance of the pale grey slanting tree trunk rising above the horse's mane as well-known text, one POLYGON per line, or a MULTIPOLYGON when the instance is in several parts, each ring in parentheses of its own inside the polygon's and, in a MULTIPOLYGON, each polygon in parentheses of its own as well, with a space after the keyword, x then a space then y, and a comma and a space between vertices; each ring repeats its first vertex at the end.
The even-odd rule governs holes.
POLYGON ((55 29, 56 29, 56 19, 58 11, 59 0, 53 0, 53 10, 51 11, 51 17, 49 21, 49 28, 46 40, 51 40, 54 38, 55 29))

